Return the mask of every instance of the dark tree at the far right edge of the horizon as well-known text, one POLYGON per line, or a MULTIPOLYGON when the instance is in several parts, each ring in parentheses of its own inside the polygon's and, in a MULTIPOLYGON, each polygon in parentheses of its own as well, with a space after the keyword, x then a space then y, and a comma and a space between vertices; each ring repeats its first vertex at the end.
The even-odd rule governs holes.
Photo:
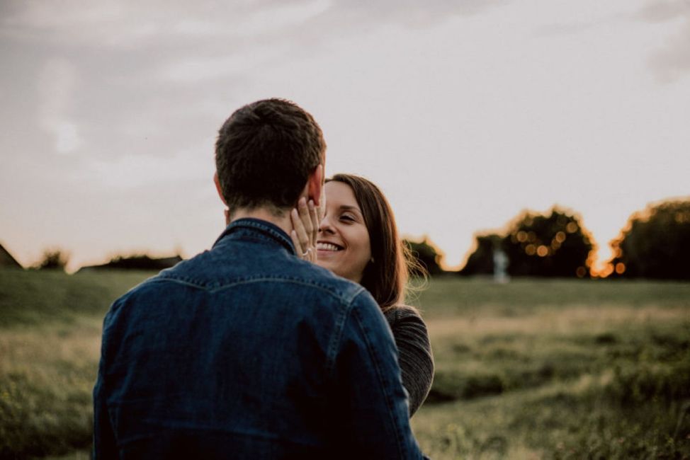
POLYGON ((690 280, 690 200, 635 212, 611 248, 613 276, 690 280))

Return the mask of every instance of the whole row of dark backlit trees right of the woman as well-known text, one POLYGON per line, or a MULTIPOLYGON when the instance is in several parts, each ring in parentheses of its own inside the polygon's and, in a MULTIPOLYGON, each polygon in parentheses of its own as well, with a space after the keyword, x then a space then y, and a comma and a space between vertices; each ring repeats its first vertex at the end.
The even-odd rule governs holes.
MULTIPOLYGON (((429 275, 443 273, 433 243, 406 241, 429 275)), ((633 213, 611 241, 613 258, 593 273, 594 240, 576 212, 526 211, 502 232, 475 235, 474 251, 458 275, 491 275, 497 253, 514 277, 599 277, 690 280, 690 200, 667 200, 633 213)))

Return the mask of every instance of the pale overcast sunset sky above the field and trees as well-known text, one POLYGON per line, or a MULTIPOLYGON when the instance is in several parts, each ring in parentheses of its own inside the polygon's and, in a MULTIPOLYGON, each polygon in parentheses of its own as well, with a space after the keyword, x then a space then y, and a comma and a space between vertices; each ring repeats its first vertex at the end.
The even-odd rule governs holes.
POLYGON ((690 0, 2 0, 0 62, 0 243, 25 266, 210 248, 217 130, 268 97, 447 267, 553 205, 601 265, 630 214, 690 198, 690 0))

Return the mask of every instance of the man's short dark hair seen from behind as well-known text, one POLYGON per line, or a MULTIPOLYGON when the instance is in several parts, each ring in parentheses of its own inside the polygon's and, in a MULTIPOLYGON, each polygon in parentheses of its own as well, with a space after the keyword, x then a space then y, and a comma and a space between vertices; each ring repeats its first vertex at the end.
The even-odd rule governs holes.
POLYGON ((326 142, 314 117, 283 99, 244 105, 228 118, 215 143, 215 166, 225 202, 236 208, 293 207, 307 178, 324 163, 326 142))

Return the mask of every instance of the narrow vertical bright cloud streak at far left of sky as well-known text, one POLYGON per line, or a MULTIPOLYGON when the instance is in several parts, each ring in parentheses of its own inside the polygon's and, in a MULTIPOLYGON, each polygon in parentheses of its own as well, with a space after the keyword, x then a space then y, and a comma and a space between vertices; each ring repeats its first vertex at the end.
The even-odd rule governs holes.
POLYGON ((79 128, 70 117, 77 83, 74 66, 60 58, 48 60, 38 79, 38 122, 55 138, 55 150, 59 154, 70 154, 82 144, 79 128))

